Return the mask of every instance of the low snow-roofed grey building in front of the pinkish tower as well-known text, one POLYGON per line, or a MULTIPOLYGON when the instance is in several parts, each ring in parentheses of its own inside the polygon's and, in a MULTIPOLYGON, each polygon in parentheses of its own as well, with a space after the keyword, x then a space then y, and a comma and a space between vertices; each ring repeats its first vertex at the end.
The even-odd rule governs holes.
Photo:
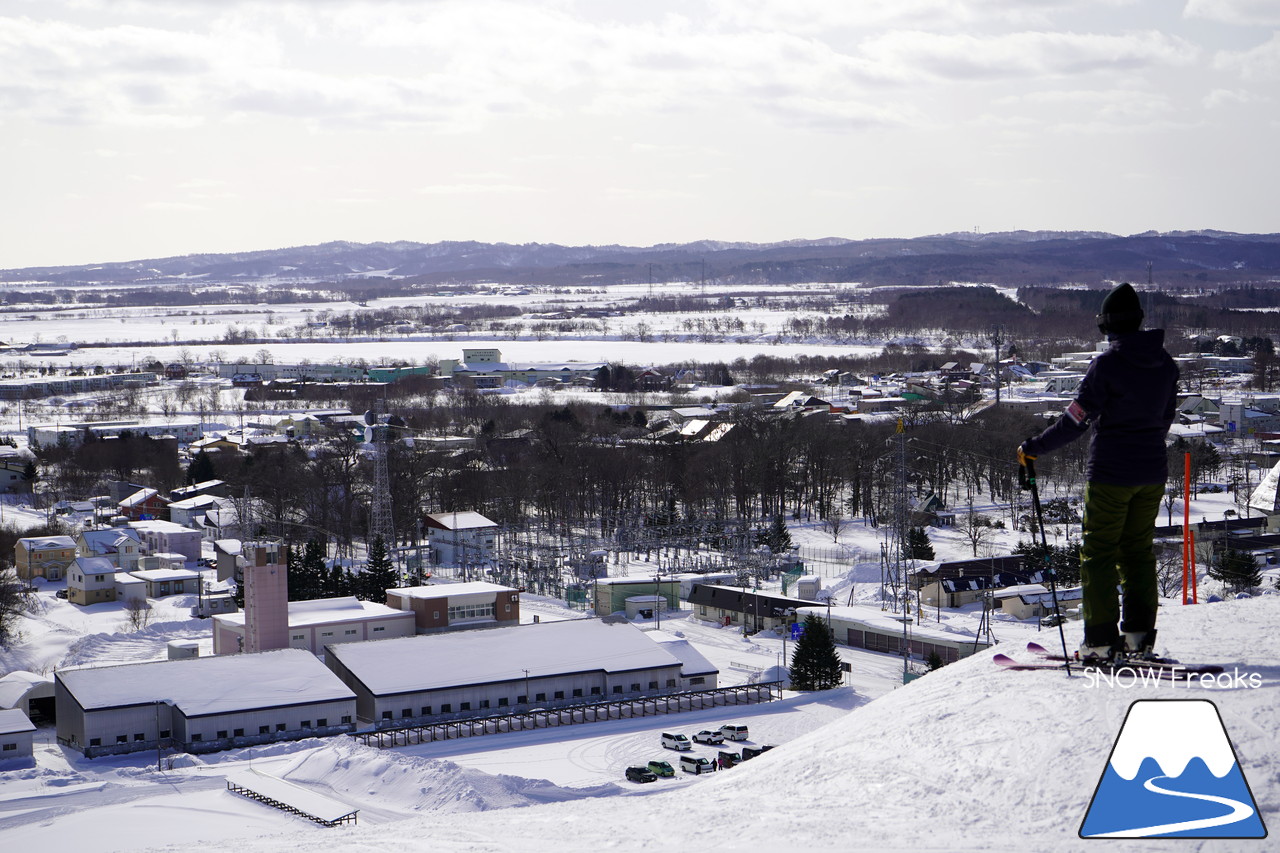
POLYGON ((356 697, 314 654, 276 649, 54 674, 58 743, 86 758, 202 753, 355 730, 356 697))

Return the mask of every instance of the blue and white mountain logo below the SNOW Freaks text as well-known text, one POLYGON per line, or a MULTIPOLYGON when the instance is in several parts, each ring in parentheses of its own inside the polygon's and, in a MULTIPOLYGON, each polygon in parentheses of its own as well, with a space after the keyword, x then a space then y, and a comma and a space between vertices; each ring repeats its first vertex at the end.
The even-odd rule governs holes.
POLYGON ((1129 706, 1080 838, 1266 838, 1217 706, 1129 706))

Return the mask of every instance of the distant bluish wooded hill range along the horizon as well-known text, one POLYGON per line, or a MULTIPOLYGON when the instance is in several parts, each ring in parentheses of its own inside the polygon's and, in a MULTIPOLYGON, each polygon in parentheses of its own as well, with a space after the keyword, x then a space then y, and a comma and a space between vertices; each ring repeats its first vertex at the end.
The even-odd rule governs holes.
POLYGON ((1096 284, 1152 280, 1172 288, 1280 280, 1280 234, 1219 231, 954 233, 909 240, 796 240, 780 243, 349 243, 225 255, 184 255, 90 266, 0 270, 0 282, 50 286, 343 282, 737 284, 1096 284))

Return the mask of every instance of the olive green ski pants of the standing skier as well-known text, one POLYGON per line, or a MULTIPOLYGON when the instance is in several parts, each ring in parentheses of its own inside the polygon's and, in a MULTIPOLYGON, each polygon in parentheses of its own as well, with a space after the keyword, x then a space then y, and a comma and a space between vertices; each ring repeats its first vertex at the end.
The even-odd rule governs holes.
POLYGON ((1084 642, 1108 646, 1120 631, 1156 626, 1156 555, 1152 538, 1165 484, 1084 487, 1084 540, 1080 583, 1084 587, 1084 642), (1116 597, 1120 587, 1120 598, 1116 597))

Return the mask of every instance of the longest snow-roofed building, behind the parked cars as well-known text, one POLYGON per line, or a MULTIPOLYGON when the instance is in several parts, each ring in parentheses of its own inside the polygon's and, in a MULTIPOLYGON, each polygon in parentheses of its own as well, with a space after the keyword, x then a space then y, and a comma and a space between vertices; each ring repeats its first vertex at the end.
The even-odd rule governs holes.
POLYGON ((332 646, 325 665, 380 727, 704 690, 719 675, 682 640, 594 619, 332 646))

